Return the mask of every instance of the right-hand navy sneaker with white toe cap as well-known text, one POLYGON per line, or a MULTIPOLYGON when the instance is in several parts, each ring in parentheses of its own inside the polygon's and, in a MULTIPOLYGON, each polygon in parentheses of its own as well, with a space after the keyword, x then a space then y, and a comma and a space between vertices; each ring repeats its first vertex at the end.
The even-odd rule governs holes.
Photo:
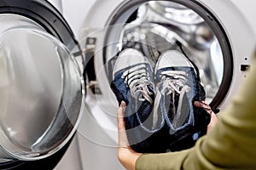
POLYGON ((207 132, 210 115, 195 107, 205 100, 196 66, 182 53, 166 51, 155 67, 155 110, 162 111, 170 134, 170 150, 183 150, 195 144, 207 132), (185 141, 185 142, 184 142, 185 141))

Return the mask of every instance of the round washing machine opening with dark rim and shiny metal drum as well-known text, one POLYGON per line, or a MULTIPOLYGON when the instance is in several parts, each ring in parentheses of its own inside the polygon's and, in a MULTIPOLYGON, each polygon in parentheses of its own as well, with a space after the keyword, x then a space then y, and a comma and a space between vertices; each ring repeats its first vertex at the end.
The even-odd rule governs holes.
POLYGON ((111 67, 114 56, 125 48, 141 51, 153 66, 161 54, 177 50, 198 67, 207 103, 218 107, 224 99, 233 71, 230 43, 221 22, 202 3, 127 2, 113 13, 108 26, 103 48, 105 64, 111 67))

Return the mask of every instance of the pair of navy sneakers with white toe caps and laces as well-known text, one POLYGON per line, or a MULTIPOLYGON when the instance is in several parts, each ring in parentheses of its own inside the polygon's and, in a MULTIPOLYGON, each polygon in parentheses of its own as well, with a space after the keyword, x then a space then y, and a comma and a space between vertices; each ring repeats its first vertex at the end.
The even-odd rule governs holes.
POLYGON ((126 48, 116 59, 111 88, 127 105, 125 129, 137 152, 187 149, 206 133, 210 115, 193 105, 205 99, 197 67, 178 51, 163 53, 153 71, 140 51, 126 48))

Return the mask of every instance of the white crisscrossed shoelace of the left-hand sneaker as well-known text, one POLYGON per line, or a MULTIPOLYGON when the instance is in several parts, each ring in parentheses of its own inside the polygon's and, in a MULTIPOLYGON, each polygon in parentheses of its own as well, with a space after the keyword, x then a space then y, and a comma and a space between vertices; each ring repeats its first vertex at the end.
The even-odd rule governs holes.
POLYGON ((149 95, 153 94, 148 90, 148 86, 154 87, 154 83, 149 81, 149 75, 145 65, 137 65, 123 73, 122 78, 125 78, 125 83, 131 89, 131 96, 140 101, 148 100, 150 104, 153 100, 149 95))

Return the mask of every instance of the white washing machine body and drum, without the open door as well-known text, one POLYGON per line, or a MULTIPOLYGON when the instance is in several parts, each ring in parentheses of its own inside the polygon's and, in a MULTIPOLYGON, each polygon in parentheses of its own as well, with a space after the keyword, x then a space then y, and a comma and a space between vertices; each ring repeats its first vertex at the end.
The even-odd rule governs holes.
POLYGON ((62 2, 64 16, 77 30, 86 64, 90 65, 86 73, 87 111, 78 135, 83 169, 123 169, 117 159, 118 103, 109 88, 108 63, 125 47, 146 54, 147 50, 136 44, 129 46, 129 40, 140 42, 151 34, 161 37, 158 43, 163 46, 168 38, 171 44, 174 40, 181 42, 199 66, 207 102, 220 110, 247 77, 256 40, 253 0, 62 2), (85 14, 80 15, 83 10, 85 14))

